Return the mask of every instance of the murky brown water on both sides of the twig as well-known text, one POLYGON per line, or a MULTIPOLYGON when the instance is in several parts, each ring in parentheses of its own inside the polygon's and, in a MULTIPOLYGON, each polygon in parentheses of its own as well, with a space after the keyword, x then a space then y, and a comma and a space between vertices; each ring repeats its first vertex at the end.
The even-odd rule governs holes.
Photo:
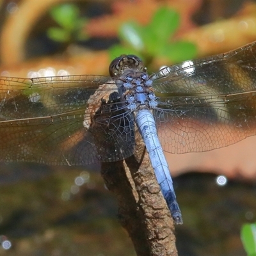
MULTIPOLYGON (((136 255, 99 173, 4 164, 0 184, 0 236, 12 245, 1 255, 136 255)), ((255 183, 188 173, 175 185, 179 255, 245 256, 239 233, 256 220, 255 183)))

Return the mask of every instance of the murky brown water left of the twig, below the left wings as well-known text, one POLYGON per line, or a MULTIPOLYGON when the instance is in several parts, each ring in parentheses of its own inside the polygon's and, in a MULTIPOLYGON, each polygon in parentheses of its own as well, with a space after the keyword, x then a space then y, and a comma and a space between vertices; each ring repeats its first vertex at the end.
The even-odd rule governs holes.
POLYGON ((99 173, 44 166, 43 175, 42 166, 26 164, 19 171, 27 179, 11 179, 13 168, 0 170, 0 236, 12 243, 0 255, 135 255, 99 173))

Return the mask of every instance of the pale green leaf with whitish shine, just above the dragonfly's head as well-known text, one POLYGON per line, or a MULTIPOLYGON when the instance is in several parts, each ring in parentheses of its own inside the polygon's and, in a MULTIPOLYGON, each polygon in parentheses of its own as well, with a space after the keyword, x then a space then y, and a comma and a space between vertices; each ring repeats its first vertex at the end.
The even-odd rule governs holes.
POLYGON ((143 29, 136 22, 127 22, 120 27, 119 36, 135 51, 143 51, 143 29))

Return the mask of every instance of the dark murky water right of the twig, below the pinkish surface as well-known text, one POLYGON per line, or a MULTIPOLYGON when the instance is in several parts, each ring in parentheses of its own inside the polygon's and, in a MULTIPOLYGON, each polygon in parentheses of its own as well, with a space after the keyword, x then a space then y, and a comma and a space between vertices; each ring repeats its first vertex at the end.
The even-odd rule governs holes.
POLYGON ((246 256, 240 239, 243 223, 256 221, 256 182, 188 173, 175 180, 184 225, 176 227, 179 255, 246 256), (186 244, 186 246, 184 246, 186 244))

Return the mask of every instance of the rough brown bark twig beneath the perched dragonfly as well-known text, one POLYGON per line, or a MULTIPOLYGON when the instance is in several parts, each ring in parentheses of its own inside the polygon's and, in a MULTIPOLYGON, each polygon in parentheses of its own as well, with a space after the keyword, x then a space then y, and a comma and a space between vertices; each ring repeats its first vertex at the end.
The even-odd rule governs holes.
POLYGON ((125 161, 102 163, 102 177, 118 200, 118 216, 138 256, 177 256, 174 225, 143 142, 125 161), (139 150, 140 149, 140 150, 139 150))

